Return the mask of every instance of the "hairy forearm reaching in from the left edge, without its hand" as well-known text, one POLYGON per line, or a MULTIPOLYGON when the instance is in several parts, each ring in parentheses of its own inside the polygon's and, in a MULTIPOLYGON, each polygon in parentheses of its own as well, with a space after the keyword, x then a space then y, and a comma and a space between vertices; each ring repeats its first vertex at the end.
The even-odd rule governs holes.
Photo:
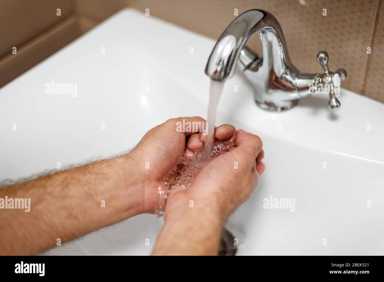
POLYGON ((0 254, 38 254, 142 212, 128 155, 0 189, 0 198, 30 198, 30 211, 0 210, 0 254))

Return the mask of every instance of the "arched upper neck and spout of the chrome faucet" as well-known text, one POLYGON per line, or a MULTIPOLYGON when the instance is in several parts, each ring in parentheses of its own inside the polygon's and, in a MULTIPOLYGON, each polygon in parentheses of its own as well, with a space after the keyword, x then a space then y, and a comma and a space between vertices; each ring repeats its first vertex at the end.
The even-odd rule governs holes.
POLYGON ((259 56, 245 46, 257 32, 262 39, 263 64, 268 62, 276 69, 288 68, 293 73, 299 73, 289 59, 279 22, 263 10, 247 11, 227 27, 210 54, 205 73, 211 79, 224 81, 233 76, 237 62, 240 62, 240 67, 246 68, 257 60, 259 56))

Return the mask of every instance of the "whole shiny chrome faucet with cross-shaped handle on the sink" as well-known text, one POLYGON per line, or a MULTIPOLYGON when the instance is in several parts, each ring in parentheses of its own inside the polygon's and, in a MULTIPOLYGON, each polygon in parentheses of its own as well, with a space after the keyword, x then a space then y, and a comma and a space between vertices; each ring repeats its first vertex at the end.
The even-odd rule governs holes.
POLYGON ((317 54, 317 61, 323 74, 298 71, 290 61, 284 34, 276 18, 263 10, 249 10, 238 16, 220 36, 209 56, 205 73, 213 80, 224 81, 233 76, 238 64, 255 87, 257 105, 270 111, 288 110, 298 99, 317 93, 315 91, 322 85, 329 95, 328 107, 338 110, 340 102, 335 89, 339 89, 347 72, 344 69, 330 72, 325 51, 317 54), (262 57, 245 46, 257 32, 262 42, 262 57))

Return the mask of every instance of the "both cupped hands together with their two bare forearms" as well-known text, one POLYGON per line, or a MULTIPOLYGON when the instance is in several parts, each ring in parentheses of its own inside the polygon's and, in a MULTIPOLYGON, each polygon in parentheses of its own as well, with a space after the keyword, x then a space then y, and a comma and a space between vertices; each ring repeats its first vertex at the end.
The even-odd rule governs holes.
MULTIPOLYGON (((0 212, 0 254, 39 254, 56 246, 58 238, 64 243, 156 211, 162 201, 159 183, 183 154, 190 157, 185 141, 199 151, 207 138, 177 132, 183 119, 204 122, 171 119, 148 131, 124 156, 2 187, 0 198, 30 199, 31 209, 0 212)), ((217 254, 224 222, 256 187, 265 169, 260 138, 231 125, 220 126, 215 137, 235 138, 236 147, 209 162, 189 189, 171 190, 152 254, 217 254)))

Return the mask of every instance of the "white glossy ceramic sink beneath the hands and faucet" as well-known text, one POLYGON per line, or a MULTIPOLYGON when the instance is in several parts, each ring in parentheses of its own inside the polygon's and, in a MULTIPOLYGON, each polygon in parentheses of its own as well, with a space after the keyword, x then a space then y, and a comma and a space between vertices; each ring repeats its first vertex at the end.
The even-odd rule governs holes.
MULTIPOLYGON (((144 11, 112 16, 0 90, 0 179, 124 151, 168 118, 206 117, 214 44, 144 11), (51 81, 76 83, 76 97, 45 93, 51 81)), ((217 125, 258 134, 266 164, 227 223, 238 254, 384 254, 384 105, 348 90, 339 100, 334 114, 320 95, 271 113, 241 72, 226 82, 217 125), (263 208, 270 197, 295 198, 295 211, 263 208)), ((44 254, 150 254, 160 228, 140 215, 44 254)))

